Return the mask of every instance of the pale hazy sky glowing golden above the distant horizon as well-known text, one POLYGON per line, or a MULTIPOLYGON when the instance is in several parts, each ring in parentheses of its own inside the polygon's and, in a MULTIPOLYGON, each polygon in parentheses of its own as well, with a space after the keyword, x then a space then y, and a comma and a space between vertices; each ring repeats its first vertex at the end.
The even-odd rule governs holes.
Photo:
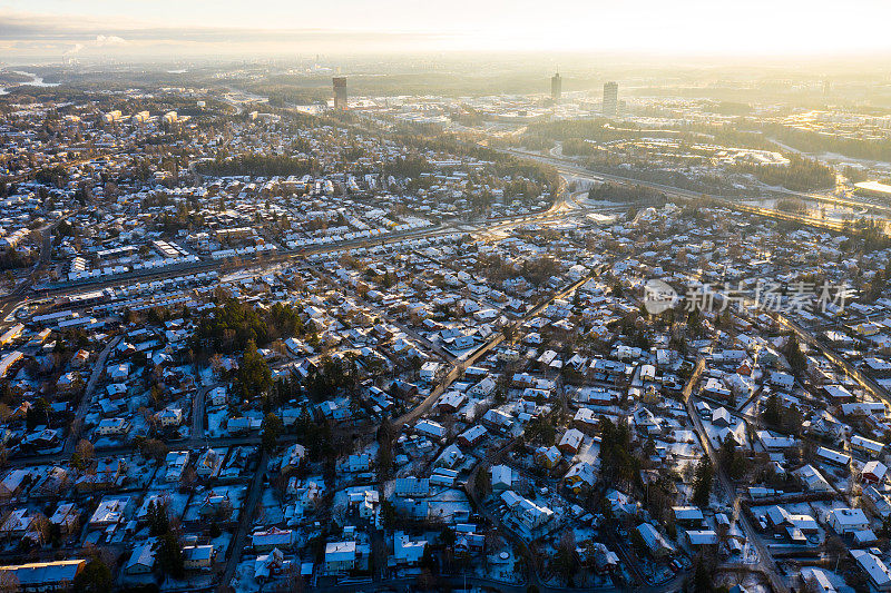
POLYGON ((891 52, 889 22, 891 0, 0 0, 0 50, 840 56, 891 52))

